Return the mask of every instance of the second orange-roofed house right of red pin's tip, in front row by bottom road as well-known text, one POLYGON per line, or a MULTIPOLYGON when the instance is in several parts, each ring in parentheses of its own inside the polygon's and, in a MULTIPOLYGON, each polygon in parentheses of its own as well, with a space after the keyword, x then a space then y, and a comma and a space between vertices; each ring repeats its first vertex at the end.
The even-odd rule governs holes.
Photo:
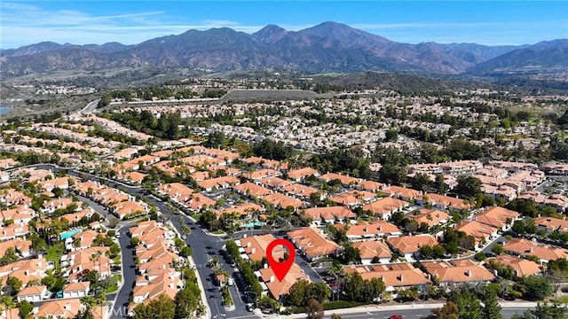
POLYGON ((440 285, 489 284, 495 280, 491 271, 471 260, 427 261, 422 265, 431 276, 438 278, 440 285))

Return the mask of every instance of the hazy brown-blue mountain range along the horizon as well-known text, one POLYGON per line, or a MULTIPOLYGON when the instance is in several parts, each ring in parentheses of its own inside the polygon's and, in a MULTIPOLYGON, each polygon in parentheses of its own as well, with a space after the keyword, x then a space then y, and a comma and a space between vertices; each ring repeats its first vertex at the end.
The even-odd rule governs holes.
POLYGON ((300 31, 268 25, 248 35, 228 27, 188 30, 143 43, 36 43, 0 51, 5 77, 124 66, 210 71, 282 68, 308 73, 384 71, 488 75, 568 69, 568 40, 521 46, 397 43, 336 22, 300 31))

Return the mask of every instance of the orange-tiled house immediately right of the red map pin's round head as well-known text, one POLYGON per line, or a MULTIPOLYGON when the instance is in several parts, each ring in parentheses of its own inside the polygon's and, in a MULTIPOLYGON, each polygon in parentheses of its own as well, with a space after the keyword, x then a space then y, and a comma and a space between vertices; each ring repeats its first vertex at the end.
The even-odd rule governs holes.
POLYGON ((310 261, 334 256, 343 250, 342 246, 327 239, 327 236, 316 228, 306 227, 288 231, 287 236, 310 261))

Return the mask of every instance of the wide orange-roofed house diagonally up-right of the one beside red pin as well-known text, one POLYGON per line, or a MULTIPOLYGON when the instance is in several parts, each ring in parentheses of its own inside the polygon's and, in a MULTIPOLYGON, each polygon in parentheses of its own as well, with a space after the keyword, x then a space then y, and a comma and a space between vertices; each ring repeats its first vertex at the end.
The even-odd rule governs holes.
POLYGON ((376 240, 383 237, 400 236, 402 231, 394 224, 385 221, 359 222, 352 225, 335 225, 337 230, 345 230, 351 241, 376 240))

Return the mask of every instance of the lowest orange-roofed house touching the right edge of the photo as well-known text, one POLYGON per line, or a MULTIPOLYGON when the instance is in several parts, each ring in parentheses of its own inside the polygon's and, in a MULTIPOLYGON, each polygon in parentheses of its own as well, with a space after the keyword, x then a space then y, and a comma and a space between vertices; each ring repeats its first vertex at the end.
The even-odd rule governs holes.
POLYGON ((513 238, 507 241, 503 248, 506 253, 519 257, 536 256, 539 258, 540 264, 568 257, 568 249, 553 245, 541 245, 525 238, 513 238))

